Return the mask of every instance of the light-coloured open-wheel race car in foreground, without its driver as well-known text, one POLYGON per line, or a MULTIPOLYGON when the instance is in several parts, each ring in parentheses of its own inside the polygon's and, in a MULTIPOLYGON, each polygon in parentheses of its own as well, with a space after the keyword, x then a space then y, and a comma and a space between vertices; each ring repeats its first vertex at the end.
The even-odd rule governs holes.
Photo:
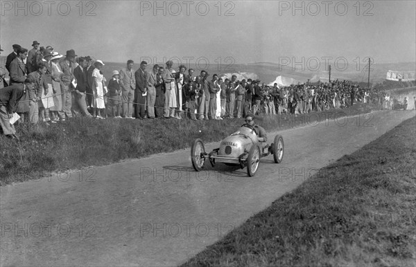
POLYGON ((196 139, 191 146, 191 160, 193 168, 200 172, 204 169, 205 160, 209 160, 212 167, 216 163, 247 167, 248 176, 254 176, 259 168, 260 158, 273 154, 275 163, 281 163, 284 154, 283 137, 275 136, 271 145, 263 148, 259 142, 257 131, 252 125, 242 125, 238 131, 227 136, 220 142, 220 147, 207 153, 202 140, 196 139))

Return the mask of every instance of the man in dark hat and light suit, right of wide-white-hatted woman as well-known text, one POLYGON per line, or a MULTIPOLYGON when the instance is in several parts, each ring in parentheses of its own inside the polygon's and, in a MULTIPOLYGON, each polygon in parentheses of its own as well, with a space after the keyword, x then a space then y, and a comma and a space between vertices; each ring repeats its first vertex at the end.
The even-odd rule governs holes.
POLYGON ((61 77, 61 93, 62 93, 62 111, 58 111, 58 114, 61 120, 67 118, 72 118, 72 89, 73 85, 71 84, 73 80, 73 69, 75 68, 75 51, 73 49, 67 50, 67 55, 64 59, 59 62, 59 66, 62 69, 61 77))

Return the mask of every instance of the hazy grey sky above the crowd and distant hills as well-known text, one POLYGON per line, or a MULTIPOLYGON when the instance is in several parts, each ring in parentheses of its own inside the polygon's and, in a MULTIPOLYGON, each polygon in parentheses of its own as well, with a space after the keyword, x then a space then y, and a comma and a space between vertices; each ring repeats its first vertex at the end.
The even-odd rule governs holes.
POLYGON ((104 62, 415 62, 415 3, 1 0, 0 45, 8 55, 36 40, 104 62))

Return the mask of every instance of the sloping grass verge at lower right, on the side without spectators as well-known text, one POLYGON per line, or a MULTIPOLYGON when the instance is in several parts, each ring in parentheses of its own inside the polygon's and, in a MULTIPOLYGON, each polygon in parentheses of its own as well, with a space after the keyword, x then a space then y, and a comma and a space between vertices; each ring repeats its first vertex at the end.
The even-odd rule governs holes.
POLYGON ((415 266, 415 136, 402 122, 183 266, 415 266))

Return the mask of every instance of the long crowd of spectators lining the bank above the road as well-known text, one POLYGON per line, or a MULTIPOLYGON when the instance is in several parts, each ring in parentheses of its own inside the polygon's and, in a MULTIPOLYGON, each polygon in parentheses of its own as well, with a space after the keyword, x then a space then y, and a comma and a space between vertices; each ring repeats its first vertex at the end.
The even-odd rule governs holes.
POLYGON ((78 57, 72 49, 61 55, 52 46, 40 47, 37 41, 32 46, 27 50, 13 45, 6 61, 10 84, 5 73, 0 73, 1 128, 11 138, 17 138, 9 123, 14 113, 20 116, 18 122, 34 125, 73 116, 223 120, 243 118, 248 113, 302 114, 350 107, 356 102, 388 102, 384 92, 348 81, 279 88, 261 80, 240 81, 236 75, 231 79, 211 76, 207 71, 195 75, 192 68, 187 70, 183 65, 175 71, 171 61, 166 66, 155 64, 147 71, 147 62, 140 62, 135 70, 130 59, 125 68, 112 71, 107 81, 101 60, 78 57))

